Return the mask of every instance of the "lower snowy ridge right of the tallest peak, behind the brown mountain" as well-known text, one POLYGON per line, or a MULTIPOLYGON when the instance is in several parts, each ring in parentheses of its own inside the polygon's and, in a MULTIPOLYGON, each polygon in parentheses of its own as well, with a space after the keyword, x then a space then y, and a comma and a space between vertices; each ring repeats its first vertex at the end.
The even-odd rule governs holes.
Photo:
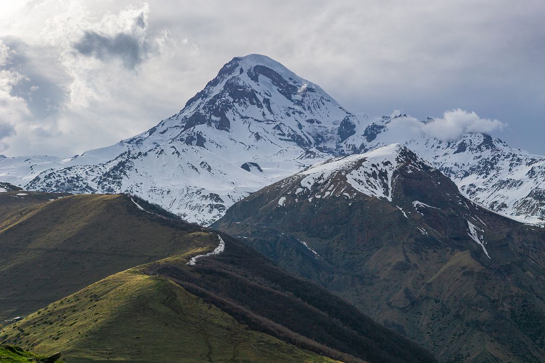
MULTIPOLYGON (((396 116, 403 122, 406 116, 396 116)), ((442 141, 423 133, 410 138, 390 128, 392 118, 376 118, 361 127, 344 147, 363 152, 402 143, 450 177, 477 204, 524 223, 545 221, 545 157, 513 149, 487 133, 466 133, 442 141)), ((422 121, 426 122, 426 121, 422 121)))

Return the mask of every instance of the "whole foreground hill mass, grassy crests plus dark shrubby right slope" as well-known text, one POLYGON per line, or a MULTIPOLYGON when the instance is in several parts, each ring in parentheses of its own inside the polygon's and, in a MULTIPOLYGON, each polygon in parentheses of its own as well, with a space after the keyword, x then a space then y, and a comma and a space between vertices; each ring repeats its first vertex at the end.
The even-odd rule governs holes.
POLYGON ((0 311, 43 309, 0 342, 69 362, 435 362, 227 235, 225 251, 188 266, 219 235, 137 202, 66 196, 3 216, 0 311))

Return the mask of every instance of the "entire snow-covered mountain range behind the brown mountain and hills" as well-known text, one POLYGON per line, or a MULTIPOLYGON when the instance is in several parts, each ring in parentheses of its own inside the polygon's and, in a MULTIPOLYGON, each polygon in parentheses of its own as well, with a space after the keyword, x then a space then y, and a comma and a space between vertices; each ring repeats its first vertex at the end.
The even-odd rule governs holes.
POLYGON ((229 61, 150 130, 71 158, 2 158, 0 181, 44 192, 136 194, 208 225, 314 163, 401 143, 478 204, 526 223, 545 220, 544 157, 486 133, 408 138, 391 132, 392 119, 356 116, 318 85, 251 54, 229 61))

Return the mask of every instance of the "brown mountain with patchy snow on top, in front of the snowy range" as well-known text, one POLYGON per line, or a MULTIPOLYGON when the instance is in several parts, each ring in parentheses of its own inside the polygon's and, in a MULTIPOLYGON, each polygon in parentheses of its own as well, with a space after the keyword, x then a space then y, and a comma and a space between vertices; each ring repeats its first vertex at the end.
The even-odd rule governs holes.
POLYGON ((465 198, 401 145, 319 163, 233 205, 240 236, 445 362, 541 362, 545 233, 465 198))

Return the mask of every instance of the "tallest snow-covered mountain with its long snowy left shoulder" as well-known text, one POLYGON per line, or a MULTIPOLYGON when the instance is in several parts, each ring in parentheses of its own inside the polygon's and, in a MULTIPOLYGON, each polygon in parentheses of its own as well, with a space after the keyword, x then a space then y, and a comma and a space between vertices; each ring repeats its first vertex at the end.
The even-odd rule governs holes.
POLYGON ((178 114, 69 159, 6 158, 0 179, 27 189, 133 193, 209 224, 270 183, 331 155, 359 120, 318 85, 257 54, 222 67, 178 114))

